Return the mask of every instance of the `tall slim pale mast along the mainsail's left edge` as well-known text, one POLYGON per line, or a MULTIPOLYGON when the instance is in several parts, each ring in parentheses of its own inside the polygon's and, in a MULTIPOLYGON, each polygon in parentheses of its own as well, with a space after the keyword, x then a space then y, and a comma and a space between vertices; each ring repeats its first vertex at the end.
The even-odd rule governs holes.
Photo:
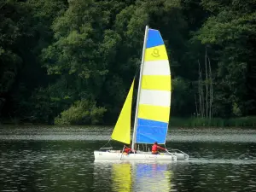
POLYGON ((143 57, 142 57, 142 62, 141 62, 140 79, 139 79, 138 90, 137 90, 137 104, 136 104, 136 112, 135 112, 135 119, 134 119, 134 127, 133 127, 131 150, 134 150, 135 141, 136 141, 137 112, 138 112, 138 105, 139 105, 140 95, 141 95, 142 74, 143 74, 143 65, 144 65, 145 49, 146 49, 146 46, 147 46, 147 39, 148 39, 148 26, 146 26, 146 28, 145 28, 145 35, 144 35, 143 57))

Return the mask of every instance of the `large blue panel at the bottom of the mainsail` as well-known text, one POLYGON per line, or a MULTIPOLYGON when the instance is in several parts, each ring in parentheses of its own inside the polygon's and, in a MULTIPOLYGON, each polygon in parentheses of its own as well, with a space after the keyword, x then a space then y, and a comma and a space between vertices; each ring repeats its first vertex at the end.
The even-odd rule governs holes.
POLYGON ((167 129, 165 122, 138 119, 136 143, 166 143, 167 129))

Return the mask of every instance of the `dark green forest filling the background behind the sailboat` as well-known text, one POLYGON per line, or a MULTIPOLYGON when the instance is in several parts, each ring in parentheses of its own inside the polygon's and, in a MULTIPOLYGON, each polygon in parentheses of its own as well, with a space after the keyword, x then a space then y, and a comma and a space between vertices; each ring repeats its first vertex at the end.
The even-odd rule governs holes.
POLYGON ((0 122, 114 125, 146 25, 170 59, 171 124, 256 125, 255 0, 0 0, 0 122))

